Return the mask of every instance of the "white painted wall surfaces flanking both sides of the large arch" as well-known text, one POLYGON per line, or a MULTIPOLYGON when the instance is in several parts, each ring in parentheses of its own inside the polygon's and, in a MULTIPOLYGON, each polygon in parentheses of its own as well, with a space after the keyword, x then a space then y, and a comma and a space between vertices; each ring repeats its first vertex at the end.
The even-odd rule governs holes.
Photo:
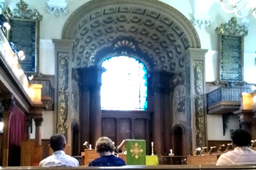
MULTIPOLYGON (((160 2, 166 3, 177 10, 179 10, 188 20, 193 20, 194 14, 208 15, 210 20, 210 26, 205 28, 204 26, 199 28, 195 27, 200 37, 201 48, 209 49, 205 55, 205 66, 206 66, 206 81, 214 82, 217 80, 218 73, 218 36, 215 32, 216 27, 221 23, 227 23, 228 20, 234 14, 227 14, 224 12, 217 1, 213 0, 159 0, 160 2), (182 3, 181 3, 182 2, 182 3)), ((11 10, 16 8, 16 3, 19 0, 6 0, 6 5, 9 5, 11 10)), ((68 17, 74 12, 79 6, 83 5, 88 0, 66 0, 68 3, 68 14, 65 16, 56 17, 50 15, 46 11, 46 1, 40 0, 26 0, 28 8, 37 9, 43 20, 40 22, 40 49, 39 49, 39 71, 43 74, 54 75, 55 74, 55 56, 54 46, 51 39, 61 39, 61 33, 68 17)), ((244 80, 248 83, 256 83, 256 76, 251 73, 255 73, 256 67, 254 66, 254 58, 256 57, 256 19, 253 16, 248 16, 244 19, 237 19, 238 24, 246 24, 249 27, 249 33, 244 39, 244 80)), ((48 115, 48 114, 46 114, 48 115)), ((44 115, 44 116, 46 116, 44 115)), ((53 117, 48 115, 47 122, 53 122, 53 117)), ((229 130, 224 137, 221 136, 222 132, 222 116, 220 115, 208 115, 208 139, 209 140, 229 140, 229 130), (214 124, 213 124, 214 122, 214 124)), ((47 123, 48 124, 48 123, 47 123)), ((49 124, 50 125, 50 124, 49 124)), ((53 125, 53 124, 51 124, 53 125)), ((53 127, 48 126, 44 128, 46 124, 43 122, 43 135, 47 135, 48 138, 52 134, 53 127), (44 133, 48 129, 50 133, 44 133)), ((230 118, 230 127, 237 128, 237 120, 230 118), (232 122, 232 123, 231 123, 232 122), (233 124, 234 122, 234 124, 233 124), (235 125, 236 124, 236 125, 235 125)))

